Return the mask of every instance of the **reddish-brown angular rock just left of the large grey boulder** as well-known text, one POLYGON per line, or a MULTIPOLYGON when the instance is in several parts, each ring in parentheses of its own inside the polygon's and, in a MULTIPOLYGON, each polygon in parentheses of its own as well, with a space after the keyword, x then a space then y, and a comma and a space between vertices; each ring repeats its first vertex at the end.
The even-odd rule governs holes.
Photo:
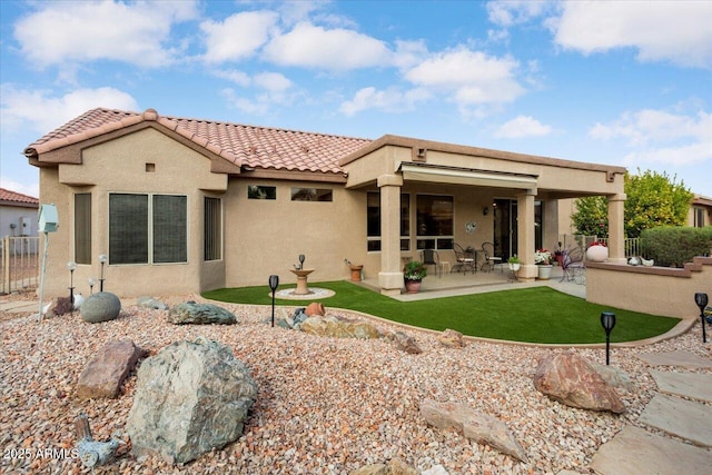
POLYGON ((77 395, 82 399, 117 397, 141 355, 144 352, 130 339, 107 343, 79 376, 77 395))

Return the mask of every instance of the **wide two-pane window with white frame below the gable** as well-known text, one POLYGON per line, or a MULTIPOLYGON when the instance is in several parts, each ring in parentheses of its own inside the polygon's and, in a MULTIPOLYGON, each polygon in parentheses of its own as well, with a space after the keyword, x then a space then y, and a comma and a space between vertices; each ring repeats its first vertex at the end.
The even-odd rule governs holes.
POLYGON ((109 264, 187 260, 188 198, 185 195, 109 195, 109 264))

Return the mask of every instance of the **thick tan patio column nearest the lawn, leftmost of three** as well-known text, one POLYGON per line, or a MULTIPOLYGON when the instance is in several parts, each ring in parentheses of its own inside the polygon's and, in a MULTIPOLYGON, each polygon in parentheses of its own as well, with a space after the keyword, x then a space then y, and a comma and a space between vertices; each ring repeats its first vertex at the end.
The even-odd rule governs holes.
POLYGON ((383 295, 400 295, 400 187, 399 175, 378 177, 380 188, 380 271, 378 286, 383 295))

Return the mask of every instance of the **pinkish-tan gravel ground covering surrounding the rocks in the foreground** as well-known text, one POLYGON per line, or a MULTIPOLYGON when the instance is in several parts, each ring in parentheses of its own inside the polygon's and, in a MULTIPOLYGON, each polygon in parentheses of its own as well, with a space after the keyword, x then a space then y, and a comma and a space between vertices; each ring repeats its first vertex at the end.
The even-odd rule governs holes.
MULTIPOLYGON (((424 350, 409 355, 387 338, 323 338, 271 328, 269 307, 219 305, 237 316, 237 325, 175 326, 167 323, 165 310, 126 303, 118 319, 101 324, 83 323, 78 313, 42 324, 29 316, 2 316, 0 472, 90 473, 71 452, 73 418, 83 412, 95 439, 118 433, 127 442, 118 459, 97 468, 97 474, 348 474, 396 457, 419 471, 442 465, 453 475, 590 473, 586 467, 599 446, 624 425, 640 425, 637 418, 654 395, 647 365, 635 354, 689 350, 712 357, 712 346, 702 345, 699 325, 660 344, 613 348, 611 364, 633 382, 631 390, 619 389, 627 412, 616 416, 566 407, 534 388, 538 359, 566 348, 468 342, 455 349, 441 345, 436 334, 406 329, 424 350), (172 342, 198 336, 229 345, 253 372, 258 395, 244 435, 185 466, 170 466, 157 457, 136 459, 123 433, 136 372, 117 399, 89 402, 76 396, 80 373, 96 350, 112 339, 130 338, 156 354, 172 342), (497 417, 524 447, 530 463, 471 443, 461 434, 428 427, 418 413, 425 398, 466 403, 497 417)), ((402 329, 382 321, 376 325, 384 331, 402 329)), ((576 352, 587 360, 605 362, 603 348, 576 352)))

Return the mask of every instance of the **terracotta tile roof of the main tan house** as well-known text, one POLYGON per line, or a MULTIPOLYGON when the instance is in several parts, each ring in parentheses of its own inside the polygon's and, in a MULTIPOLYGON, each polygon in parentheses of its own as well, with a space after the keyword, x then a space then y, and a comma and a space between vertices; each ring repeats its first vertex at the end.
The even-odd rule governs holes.
POLYGON ((92 109, 47 133, 24 150, 43 154, 113 130, 154 120, 233 164, 253 168, 339 174, 339 159, 370 144, 368 139, 160 117, 147 111, 92 109))

